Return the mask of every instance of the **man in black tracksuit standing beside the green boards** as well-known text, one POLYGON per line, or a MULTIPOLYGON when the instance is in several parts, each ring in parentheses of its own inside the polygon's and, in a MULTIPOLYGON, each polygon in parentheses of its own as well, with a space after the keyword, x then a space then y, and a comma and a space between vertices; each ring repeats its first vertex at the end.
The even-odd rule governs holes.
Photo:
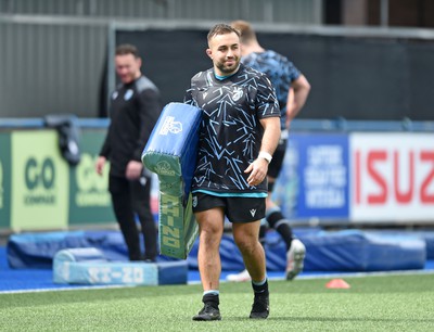
POLYGON ((115 67, 120 84, 112 94, 111 124, 95 168, 102 175, 105 162, 111 163, 108 190, 129 259, 154 261, 157 245, 150 206, 151 177, 143 169, 141 153, 162 108, 158 89, 141 74, 141 65, 135 46, 116 48, 115 67), (144 255, 141 253, 136 214, 144 238, 144 255))

